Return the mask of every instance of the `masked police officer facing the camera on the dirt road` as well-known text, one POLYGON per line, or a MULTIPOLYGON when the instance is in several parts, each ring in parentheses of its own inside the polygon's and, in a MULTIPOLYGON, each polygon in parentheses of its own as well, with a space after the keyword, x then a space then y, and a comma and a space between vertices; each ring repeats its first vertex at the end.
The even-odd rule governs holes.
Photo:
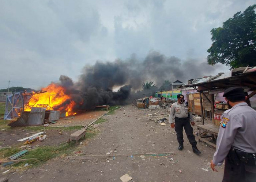
POLYGON ((169 123, 171 123, 171 127, 175 128, 177 139, 178 139, 178 150, 183 149, 183 127, 187 134, 189 143, 192 145, 192 150, 196 154, 201 154, 201 152, 196 147, 195 136, 193 135, 193 128, 191 124, 194 126, 195 122, 193 120, 192 113, 189 110, 189 107, 184 103, 184 95, 177 95, 177 102, 173 103, 170 109, 170 117, 169 123), (175 118, 174 118, 175 116, 175 118), (173 123, 173 118, 175 120, 175 124, 173 123), (191 124, 190 124, 191 121, 191 124))

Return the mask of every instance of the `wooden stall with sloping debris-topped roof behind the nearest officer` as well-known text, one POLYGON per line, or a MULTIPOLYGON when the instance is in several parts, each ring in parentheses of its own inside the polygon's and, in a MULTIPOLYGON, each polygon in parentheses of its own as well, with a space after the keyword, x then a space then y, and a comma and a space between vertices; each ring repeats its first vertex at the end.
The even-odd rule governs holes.
MULTIPOLYGON (((209 145, 216 147, 221 115, 225 110, 229 109, 229 107, 225 103, 220 103, 216 104, 215 108, 215 95, 225 92, 227 88, 241 86, 244 87, 245 94, 248 96, 246 102, 251 106, 250 98, 256 94, 256 67, 236 68, 225 74, 209 76, 202 80, 197 79, 197 81, 197 83, 192 82, 192 84, 184 85, 182 87, 193 87, 199 92, 200 113, 202 114, 202 124, 197 125, 197 128, 199 129, 199 142, 204 141, 209 145), (248 95, 248 91, 250 91, 251 94, 248 95), (204 105, 208 106, 209 104, 210 108, 204 108, 204 105), (207 111, 211 111, 212 123, 204 124, 204 110, 206 109, 207 111), (207 138, 210 138, 211 140, 207 138)), ((195 95, 195 97, 193 96, 193 98, 196 98, 194 105, 195 103, 198 104, 198 95, 195 95)), ((189 100, 190 99, 189 95, 189 100)), ((191 106, 193 108, 192 102, 191 106)), ((198 108, 195 108, 195 111, 197 111, 196 109, 198 110, 198 108)))

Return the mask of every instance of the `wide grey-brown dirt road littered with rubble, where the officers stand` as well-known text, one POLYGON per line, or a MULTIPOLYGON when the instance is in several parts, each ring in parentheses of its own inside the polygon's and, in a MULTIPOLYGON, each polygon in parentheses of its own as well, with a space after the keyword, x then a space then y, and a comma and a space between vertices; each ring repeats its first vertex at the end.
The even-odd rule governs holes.
POLYGON ((116 155, 115 159, 113 157, 83 160, 55 158, 42 166, 4 176, 8 177, 10 182, 119 182, 124 174, 129 174, 134 182, 221 181, 223 166, 217 167, 219 172, 216 173, 211 171, 207 164, 214 154, 213 147, 200 142, 197 147, 202 154, 197 156, 192 152, 184 133, 184 149, 179 151, 174 129, 170 128, 169 124, 161 126, 155 123, 157 117, 168 118, 167 112, 168 110, 162 109, 139 110, 135 106, 128 105, 115 111, 113 115, 103 116, 108 121, 97 124, 99 134, 87 142, 87 145, 82 146, 81 150, 85 155, 111 153, 116 155), (170 155, 169 158, 144 155, 144 160, 140 156, 131 157, 135 153, 157 152, 174 152, 176 155, 170 155))

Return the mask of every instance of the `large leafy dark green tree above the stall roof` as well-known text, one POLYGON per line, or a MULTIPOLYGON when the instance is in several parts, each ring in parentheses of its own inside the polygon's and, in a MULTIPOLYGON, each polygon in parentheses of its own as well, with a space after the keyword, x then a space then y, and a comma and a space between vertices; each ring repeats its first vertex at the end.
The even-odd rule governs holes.
POLYGON ((208 64, 226 64, 232 68, 256 66, 256 4, 237 12, 211 30, 212 46, 207 50, 208 64))

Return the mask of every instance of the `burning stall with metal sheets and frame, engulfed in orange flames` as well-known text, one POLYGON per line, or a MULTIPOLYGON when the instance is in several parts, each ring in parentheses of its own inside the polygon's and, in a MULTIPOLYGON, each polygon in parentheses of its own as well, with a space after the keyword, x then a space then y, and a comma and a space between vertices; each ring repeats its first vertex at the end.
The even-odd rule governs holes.
POLYGON ((65 103, 71 97, 64 93, 65 88, 51 83, 40 92, 19 92, 7 97, 4 119, 12 119, 9 126, 33 126, 74 115, 75 102, 65 103), (61 107, 60 107, 61 105, 61 107), (56 109, 57 108, 57 109, 56 109))

